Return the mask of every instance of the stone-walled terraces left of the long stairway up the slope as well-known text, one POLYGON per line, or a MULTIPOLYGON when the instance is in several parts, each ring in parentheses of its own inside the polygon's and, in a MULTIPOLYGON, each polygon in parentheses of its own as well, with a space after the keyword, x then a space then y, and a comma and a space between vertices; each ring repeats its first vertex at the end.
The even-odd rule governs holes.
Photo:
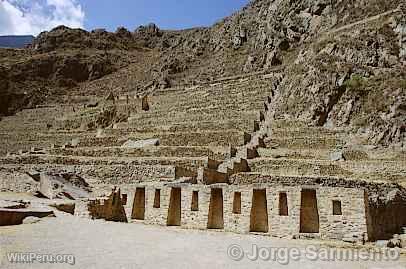
POLYGON ((10 171, 19 171, 17 177, 30 170, 70 171, 103 189, 197 177, 200 167, 208 163, 214 167, 213 160, 219 175, 220 171, 227 176, 247 172, 248 155, 256 149, 248 146, 255 145, 251 140, 256 136, 248 134, 256 128, 258 115, 263 116, 263 100, 273 83, 271 76, 257 76, 156 91, 149 96, 149 111, 141 110, 140 99, 118 98, 115 106, 123 113, 129 111, 128 121, 101 131, 80 128, 88 122, 86 115, 100 110, 82 103, 24 110, 0 122, 4 145, 0 147, 0 176, 10 171), (129 139, 151 138, 158 138, 159 146, 122 147, 129 139), (31 147, 41 150, 33 152, 31 147))

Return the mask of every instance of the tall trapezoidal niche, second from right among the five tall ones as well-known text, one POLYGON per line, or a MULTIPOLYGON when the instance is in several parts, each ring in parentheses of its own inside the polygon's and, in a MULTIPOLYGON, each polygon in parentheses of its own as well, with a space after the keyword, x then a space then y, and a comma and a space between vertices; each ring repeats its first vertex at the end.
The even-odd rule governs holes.
POLYGON ((266 190, 254 190, 251 204, 250 232, 267 233, 268 231, 266 190))

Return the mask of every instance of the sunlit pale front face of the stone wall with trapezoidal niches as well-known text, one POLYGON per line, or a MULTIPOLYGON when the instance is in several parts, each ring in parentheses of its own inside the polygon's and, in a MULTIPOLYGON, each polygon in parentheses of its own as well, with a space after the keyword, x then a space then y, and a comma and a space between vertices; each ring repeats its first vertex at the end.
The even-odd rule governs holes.
MULTIPOLYGON (((134 201, 139 200, 138 198, 134 200, 136 188, 134 187, 129 191, 129 202, 125 206, 129 219, 132 215, 134 201)), ((208 227, 219 227, 217 230, 226 232, 259 232, 276 237, 292 238, 301 235, 301 198, 302 191, 306 190, 306 187, 284 187, 282 185, 269 187, 266 184, 253 186, 215 184, 207 186, 162 183, 161 185, 140 185, 138 188, 145 188, 145 201, 142 202, 142 205, 145 205, 145 216, 141 221, 147 224, 162 226, 170 224, 171 226, 202 230, 208 229, 208 227), (175 198, 180 199, 180 225, 174 224, 176 222, 173 221, 168 223, 168 213, 175 210, 173 207, 176 207, 176 204, 173 204, 174 198, 171 201, 172 189, 180 189, 180 197, 175 198), (159 190, 159 207, 156 203, 157 190, 159 190), (195 194, 193 194, 194 192, 195 194), (257 198, 254 199, 256 206, 252 207, 254 192, 261 194, 256 196, 257 198), (220 193, 223 198, 222 205, 219 201, 220 193), (281 193, 286 194, 287 216, 280 214, 279 196, 281 193), (235 195, 238 196, 237 199, 234 199, 235 195), (196 198, 196 196, 198 203, 196 205, 195 200, 192 207, 192 197, 196 198), (234 201, 241 201, 240 213, 235 213, 238 205, 233 204, 234 201), (266 205, 263 204, 264 201, 266 201, 266 205), (215 204, 210 206, 211 203, 215 204), (172 207, 171 210, 169 210, 170 207, 172 207), (222 212, 219 212, 221 207, 222 212), (255 216, 252 217, 253 215, 255 216), (210 217, 214 219, 209 221, 210 217), (221 219, 223 219, 223 225, 219 223, 221 219), (267 223, 268 227, 264 227, 264 223, 267 223)), ((312 233, 313 237, 343 239, 351 235, 362 241, 368 232, 364 190, 314 186, 308 188, 313 189, 316 193, 320 223, 319 231, 312 233), (333 201, 341 203, 342 215, 333 215, 333 201)), ((171 214, 173 215, 173 212, 171 214)))

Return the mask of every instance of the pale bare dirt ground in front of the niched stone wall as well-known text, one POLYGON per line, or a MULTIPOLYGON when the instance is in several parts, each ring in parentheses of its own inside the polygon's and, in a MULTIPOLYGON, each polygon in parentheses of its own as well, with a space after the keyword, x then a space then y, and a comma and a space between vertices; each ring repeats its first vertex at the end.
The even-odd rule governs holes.
POLYGON ((283 256, 277 261, 269 257, 252 261, 251 255, 238 256, 239 250, 251 254, 255 245, 304 252, 310 244, 317 241, 91 221, 57 212, 56 218, 35 224, 0 227, 0 268, 406 268, 403 256, 393 262, 312 261, 305 255, 288 262, 283 256), (7 253, 11 252, 70 254, 74 264, 15 264, 8 261, 7 253))

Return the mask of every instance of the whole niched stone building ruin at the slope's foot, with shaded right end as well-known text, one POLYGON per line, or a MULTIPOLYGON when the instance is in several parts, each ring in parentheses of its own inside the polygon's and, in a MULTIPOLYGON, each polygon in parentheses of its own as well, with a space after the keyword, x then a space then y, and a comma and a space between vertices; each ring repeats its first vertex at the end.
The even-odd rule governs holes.
MULTIPOLYGON (((238 182, 239 177, 233 179, 238 182)), ((245 177, 243 183, 234 184, 139 184, 127 189, 126 202, 120 200, 120 192, 113 192, 104 206, 91 201, 89 211, 92 217, 107 220, 114 219, 114 208, 120 216, 116 221, 352 243, 389 239, 406 226, 406 216, 399 214, 406 210, 406 190, 396 185, 245 177), (376 197, 377 188, 382 196, 376 197), (390 193, 396 197, 390 198, 390 193), (114 199, 116 207, 111 206, 114 199)))

